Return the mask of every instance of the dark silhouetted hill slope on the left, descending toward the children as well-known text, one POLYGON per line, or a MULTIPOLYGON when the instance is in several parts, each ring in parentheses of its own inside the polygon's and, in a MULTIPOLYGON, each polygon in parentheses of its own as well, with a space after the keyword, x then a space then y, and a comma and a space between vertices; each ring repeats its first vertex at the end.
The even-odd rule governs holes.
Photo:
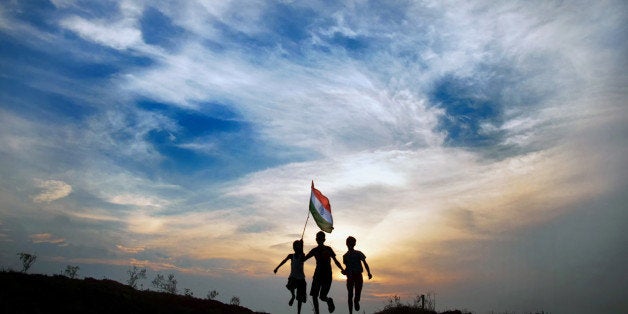
POLYGON ((165 292, 136 290, 109 279, 0 272, 0 313, 253 314, 248 308, 165 292))

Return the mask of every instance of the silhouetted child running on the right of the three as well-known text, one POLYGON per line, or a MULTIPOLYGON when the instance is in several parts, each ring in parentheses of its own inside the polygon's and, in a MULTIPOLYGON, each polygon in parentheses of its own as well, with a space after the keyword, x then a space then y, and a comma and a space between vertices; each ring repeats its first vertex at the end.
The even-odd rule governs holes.
POLYGON ((343 274, 347 276, 347 292, 349 293, 349 314, 353 313, 353 305, 355 304, 355 310, 360 310, 360 295, 362 294, 362 263, 369 275, 369 279, 373 278, 369 264, 366 263, 366 256, 360 251, 354 250, 355 238, 347 238, 347 248, 349 251, 342 256, 342 262, 345 264, 345 271, 343 274), (355 296, 353 290, 355 289, 355 296))

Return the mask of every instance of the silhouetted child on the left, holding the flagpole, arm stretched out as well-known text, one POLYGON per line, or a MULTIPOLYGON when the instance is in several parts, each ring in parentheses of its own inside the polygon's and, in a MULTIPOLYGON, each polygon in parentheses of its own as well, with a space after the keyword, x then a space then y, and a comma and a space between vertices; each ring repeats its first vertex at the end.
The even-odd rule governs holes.
POLYGON ((305 291, 307 289, 307 283, 305 282, 305 273, 303 272, 303 262, 305 261, 305 255, 303 254, 303 240, 296 240, 292 243, 292 249, 294 250, 293 254, 288 254, 286 258, 284 258, 275 270, 273 271, 275 274, 281 265, 285 264, 287 261, 290 261, 290 276, 288 276, 288 284, 286 284, 286 288, 290 290, 290 294, 292 298, 288 302, 288 305, 292 306, 294 303, 294 290, 297 291, 297 313, 301 313, 301 304, 305 303, 307 296, 305 295, 305 291))

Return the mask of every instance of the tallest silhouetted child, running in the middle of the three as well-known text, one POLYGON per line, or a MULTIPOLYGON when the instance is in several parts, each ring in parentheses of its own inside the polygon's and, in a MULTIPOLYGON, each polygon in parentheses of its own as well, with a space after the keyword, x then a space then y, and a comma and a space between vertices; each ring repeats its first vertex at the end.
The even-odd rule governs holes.
POLYGON ((312 277, 312 289, 310 290, 310 295, 312 296, 312 302, 314 303, 315 314, 319 314, 317 298, 320 298, 321 301, 327 302, 327 308, 329 313, 331 313, 336 309, 334 300, 327 297, 327 293, 329 293, 329 289, 331 288, 331 259, 334 259, 336 266, 338 266, 341 271, 344 271, 344 269, 342 269, 340 262, 336 259, 336 253, 334 253, 334 250, 323 244, 325 243, 324 232, 319 231, 316 234, 316 243, 318 243, 318 246, 310 250, 310 252, 305 255, 306 261, 312 256, 316 259, 316 268, 314 269, 314 277, 312 277))

